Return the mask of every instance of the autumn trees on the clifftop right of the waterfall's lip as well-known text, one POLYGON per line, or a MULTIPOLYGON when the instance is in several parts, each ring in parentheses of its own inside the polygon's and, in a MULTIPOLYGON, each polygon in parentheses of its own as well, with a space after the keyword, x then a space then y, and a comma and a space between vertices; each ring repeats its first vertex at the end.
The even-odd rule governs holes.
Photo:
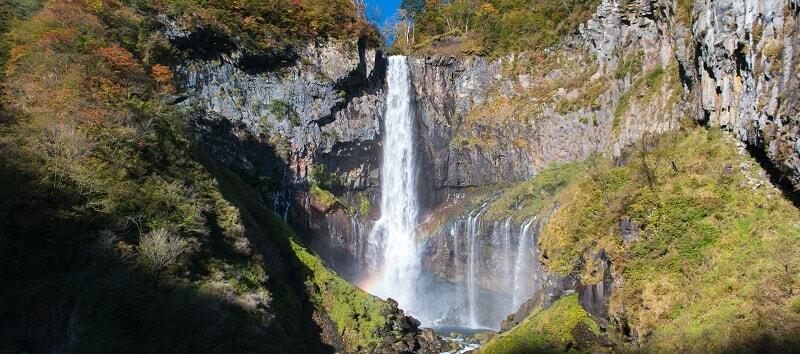
POLYGON ((403 0, 393 49, 497 56, 555 45, 597 0, 403 0))

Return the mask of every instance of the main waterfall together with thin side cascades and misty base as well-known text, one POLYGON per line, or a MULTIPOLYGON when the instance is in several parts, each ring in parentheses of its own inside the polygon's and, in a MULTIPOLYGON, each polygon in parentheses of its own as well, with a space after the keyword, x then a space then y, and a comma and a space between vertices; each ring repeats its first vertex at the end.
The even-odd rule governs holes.
POLYGON ((358 260, 365 290, 395 299, 400 308, 424 326, 451 329, 497 329, 509 313, 541 288, 536 254, 540 223, 521 225, 511 220, 484 223, 486 205, 467 211, 447 225, 441 235, 417 235, 418 178, 414 151, 414 117, 408 63, 392 56, 387 70, 387 107, 381 163, 381 216, 371 229, 353 227, 356 240, 365 240, 358 260), (366 237, 364 237, 366 236, 366 237), (442 276, 429 263, 434 242, 444 242, 446 267, 442 276), (538 268, 538 269, 537 269, 538 268))

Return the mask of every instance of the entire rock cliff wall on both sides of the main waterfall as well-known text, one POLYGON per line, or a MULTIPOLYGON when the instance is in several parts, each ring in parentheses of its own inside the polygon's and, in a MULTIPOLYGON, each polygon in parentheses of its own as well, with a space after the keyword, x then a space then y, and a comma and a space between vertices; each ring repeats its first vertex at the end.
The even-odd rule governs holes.
MULTIPOLYGON (((620 156, 684 118, 732 131, 798 188, 796 4, 682 4, 603 1, 544 52, 410 57, 426 213, 553 162, 620 156)), ((385 55, 331 41, 274 67, 248 60, 182 65, 185 104, 212 155, 259 180, 274 211, 355 277, 379 215, 385 55)))

